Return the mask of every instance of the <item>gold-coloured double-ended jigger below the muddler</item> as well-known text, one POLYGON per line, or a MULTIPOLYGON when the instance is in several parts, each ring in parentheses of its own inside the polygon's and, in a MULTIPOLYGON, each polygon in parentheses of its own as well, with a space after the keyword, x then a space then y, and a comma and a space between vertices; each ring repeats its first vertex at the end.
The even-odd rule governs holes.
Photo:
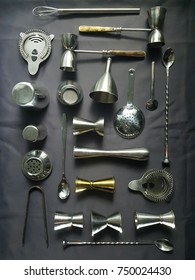
POLYGON ((88 181, 79 177, 75 180, 76 190, 75 192, 82 192, 85 190, 99 190, 109 193, 115 192, 115 178, 107 178, 96 181, 88 181))

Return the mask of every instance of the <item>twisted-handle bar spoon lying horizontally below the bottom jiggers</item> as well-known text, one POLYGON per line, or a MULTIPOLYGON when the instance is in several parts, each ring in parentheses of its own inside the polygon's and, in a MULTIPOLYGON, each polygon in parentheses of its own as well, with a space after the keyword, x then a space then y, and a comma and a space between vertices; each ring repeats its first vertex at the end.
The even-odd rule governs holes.
POLYGON ((173 244, 168 239, 158 239, 155 241, 63 241, 64 249, 68 246, 76 245, 155 245, 159 250, 163 252, 173 251, 173 244))

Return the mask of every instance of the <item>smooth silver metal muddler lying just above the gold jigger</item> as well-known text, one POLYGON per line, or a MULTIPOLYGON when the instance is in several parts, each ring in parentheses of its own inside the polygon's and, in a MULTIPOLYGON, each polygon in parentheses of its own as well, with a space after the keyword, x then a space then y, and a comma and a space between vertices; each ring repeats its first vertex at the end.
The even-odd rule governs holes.
POLYGON ((93 157, 118 157, 124 159, 143 161, 148 160, 150 152, 145 148, 101 150, 74 146, 73 155, 76 159, 93 157))

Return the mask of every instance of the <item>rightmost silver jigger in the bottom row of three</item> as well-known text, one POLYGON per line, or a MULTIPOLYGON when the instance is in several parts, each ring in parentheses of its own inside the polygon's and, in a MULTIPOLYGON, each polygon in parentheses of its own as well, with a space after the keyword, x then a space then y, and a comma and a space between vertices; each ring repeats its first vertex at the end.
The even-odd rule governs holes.
POLYGON ((175 214, 173 210, 164 214, 135 212, 136 229, 142 229, 154 225, 163 225, 175 229, 175 214))

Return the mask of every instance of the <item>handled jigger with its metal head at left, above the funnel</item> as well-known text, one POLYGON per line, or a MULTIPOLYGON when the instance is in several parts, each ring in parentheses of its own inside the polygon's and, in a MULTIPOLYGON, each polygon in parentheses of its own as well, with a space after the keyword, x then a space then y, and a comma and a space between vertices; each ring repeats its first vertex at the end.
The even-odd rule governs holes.
POLYGON ((88 54, 101 54, 105 57, 111 56, 125 56, 125 57, 145 57, 144 51, 130 51, 130 50, 77 50, 78 36, 72 33, 63 33, 61 35, 62 45, 64 47, 64 53, 60 62, 60 69, 67 72, 76 71, 76 53, 88 53, 88 54))

